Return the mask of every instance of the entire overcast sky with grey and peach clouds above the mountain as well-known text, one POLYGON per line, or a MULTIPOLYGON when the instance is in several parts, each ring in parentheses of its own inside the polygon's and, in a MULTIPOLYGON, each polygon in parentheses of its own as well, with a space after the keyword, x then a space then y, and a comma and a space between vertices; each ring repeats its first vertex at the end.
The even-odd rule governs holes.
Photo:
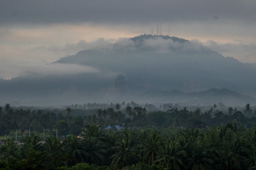
POLYGON ((0 77, 93 46, 156 33, 256 63, 255 0, 0 0, 0 77), (25 67, 25 68, 24 68, 25 67), (15 70, 15 71, 14 71, 15 70))

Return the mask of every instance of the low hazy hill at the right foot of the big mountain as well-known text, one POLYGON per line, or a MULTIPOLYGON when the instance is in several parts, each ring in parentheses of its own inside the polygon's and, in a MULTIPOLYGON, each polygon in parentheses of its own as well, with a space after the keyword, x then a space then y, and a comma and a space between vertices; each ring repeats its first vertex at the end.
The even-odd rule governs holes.
POLYGON ((246 103, 255 105, 256 98, 239 94, 236 91, 228 89, 212 88, 202 92, 184 93, 178 90, 172 91, 146 91, 138 96, 141 101, 148 101, 154 103, 170 102, 179 103, 184 106, 189 105, 205 105, 210 106, 222 102, 226 106, 243 106, 246 103))

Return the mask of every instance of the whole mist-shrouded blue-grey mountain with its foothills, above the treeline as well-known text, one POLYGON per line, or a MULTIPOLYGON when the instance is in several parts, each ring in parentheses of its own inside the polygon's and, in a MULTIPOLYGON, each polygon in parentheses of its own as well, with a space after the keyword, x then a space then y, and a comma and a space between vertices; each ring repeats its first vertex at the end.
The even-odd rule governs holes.
POLYGON ((199 43, 144 34, 116 41, 99 39, 88 46, 42 70, 0 80, 0 102, 256 103, 252 98, 256 96, 255 64, 240 63, 199 43))

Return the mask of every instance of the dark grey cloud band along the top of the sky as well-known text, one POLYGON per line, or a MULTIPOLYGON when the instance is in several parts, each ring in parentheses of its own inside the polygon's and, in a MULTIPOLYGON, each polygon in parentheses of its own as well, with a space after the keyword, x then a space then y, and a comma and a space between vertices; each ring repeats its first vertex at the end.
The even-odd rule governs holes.
POLYGON ((252 0, 2 0, 1 23, 256 21, 252 0), (215 21, 214 21, 215 20, 215 21))

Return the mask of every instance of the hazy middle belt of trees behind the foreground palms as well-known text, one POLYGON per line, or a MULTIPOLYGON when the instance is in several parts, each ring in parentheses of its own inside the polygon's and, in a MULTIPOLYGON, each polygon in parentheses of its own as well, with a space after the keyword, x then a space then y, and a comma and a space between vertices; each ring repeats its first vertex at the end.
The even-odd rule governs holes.
POLYGON ((125 106, 115 104, 106 109, 84 110, 83 114, 74 116, 76 109, 67 107, 65 110, 31 110, 12 108, 10 104, 0 107, 0 136, 24 138, 29 131, 42 137, 43 129, 46 136, 79 135, 81 128, 88 124, 101 127, 119 125, 125 128, 206 128, 217 127, 230 121, 237 121, 246 127, 256 124, 256 111, 247 104, 242 111, 229 107, 220 111, 213 106, 206 111, 199 108, 189 111, 186 107, 178 109, 169 106, 166 111, 148 111, 146 107, 125 106), (16 135, 16 134, 15 134, 16 135))

